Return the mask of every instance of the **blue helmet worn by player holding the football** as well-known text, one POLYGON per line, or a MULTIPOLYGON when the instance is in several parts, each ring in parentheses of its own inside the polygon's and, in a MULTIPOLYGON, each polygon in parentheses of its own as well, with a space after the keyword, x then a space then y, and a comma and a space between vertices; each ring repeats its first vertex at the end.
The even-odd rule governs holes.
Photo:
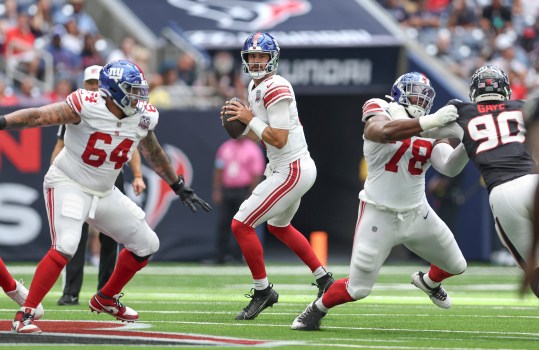
POLYGON ((261 79, 268 73, 275 72, 279 64, 279 45, 277 41, 268 33, 257 32, 250 35, 241 50, 241 61, 243 72, 248 73, 253 79, 261 79), (247 59, 248 55, 253 52, 264 52, 270 55, 270 60, 266 64, 266 68, 261 71, 252 71, 247 59))

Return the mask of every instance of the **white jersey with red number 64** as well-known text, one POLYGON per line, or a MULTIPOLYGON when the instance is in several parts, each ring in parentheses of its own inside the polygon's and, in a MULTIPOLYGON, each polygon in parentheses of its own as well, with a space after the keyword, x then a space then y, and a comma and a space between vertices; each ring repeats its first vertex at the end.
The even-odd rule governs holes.
POLYGON ((157 125, 159 113, 153 105, 140 103, 140 113, 118 119, 98 92, 83 89, 71 93, 66 102, 81 121, 66 125, 65 147, 47 173, 45 185, 67 176, 83 189, 106 193, 140 140, 157 125))

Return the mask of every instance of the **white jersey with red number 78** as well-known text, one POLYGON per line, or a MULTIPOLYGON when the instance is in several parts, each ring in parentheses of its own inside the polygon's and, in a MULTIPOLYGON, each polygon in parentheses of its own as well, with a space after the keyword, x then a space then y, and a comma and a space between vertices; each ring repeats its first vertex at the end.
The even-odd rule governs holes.
MULTIPOLYGON (((363 120, 387 114, 382 103, 365 103, 363 120), (384 112, 380 113, 384 109, 384 112), (377 110, 377 111, 375 111, 377 110)), ((387 105, 387 102, 386 102, 387 105)), ((406 211, 422 205, 425 197, 425 172, 431 165, 434 139, 412 137, 403 141, 379 143, 364 139, 363 154, 368 175, 359 198, 387 209, 406 211)))

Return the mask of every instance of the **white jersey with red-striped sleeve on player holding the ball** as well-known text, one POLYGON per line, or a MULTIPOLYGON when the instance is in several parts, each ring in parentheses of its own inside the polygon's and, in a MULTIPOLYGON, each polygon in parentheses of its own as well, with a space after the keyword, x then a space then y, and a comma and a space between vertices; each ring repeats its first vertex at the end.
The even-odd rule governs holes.
POLYGON ((254 86, 254 81, 251 81, 249 84, 249 106, 255 117, 272 128, 287 129, 289 131, 288 142, 283 148, 278 149, 270 144, 265 144, 268 160, 272 166, 288 165, 303 156, 309 155, 303 126, 299 122, 296 96, 288 80, 280 75, 272 75, 256 87, 254 86), (270 120, 268 108, 284 99, 289 100, 290 118, 270 120))

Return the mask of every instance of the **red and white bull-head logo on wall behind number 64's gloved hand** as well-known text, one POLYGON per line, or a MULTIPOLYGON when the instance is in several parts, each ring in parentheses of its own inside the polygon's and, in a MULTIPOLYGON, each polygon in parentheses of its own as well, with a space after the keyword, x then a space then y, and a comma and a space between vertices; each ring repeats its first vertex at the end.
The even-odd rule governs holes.
MULTIPOLYGON (((189 158, 180 149, 164 145, 172 166, 177 174, 182 174, 187 186, 193 182, 193 167, 189 158)), ((152 229, 155 229, 161 219, 167 214, 170 203, 178 199, 170 186, 151 168, 142 165, 142 174, 146 182, 146 191, 140 196, 135 196, 130 184, 125 185, 127 195, 146 212, 146 221, 152 229)))

